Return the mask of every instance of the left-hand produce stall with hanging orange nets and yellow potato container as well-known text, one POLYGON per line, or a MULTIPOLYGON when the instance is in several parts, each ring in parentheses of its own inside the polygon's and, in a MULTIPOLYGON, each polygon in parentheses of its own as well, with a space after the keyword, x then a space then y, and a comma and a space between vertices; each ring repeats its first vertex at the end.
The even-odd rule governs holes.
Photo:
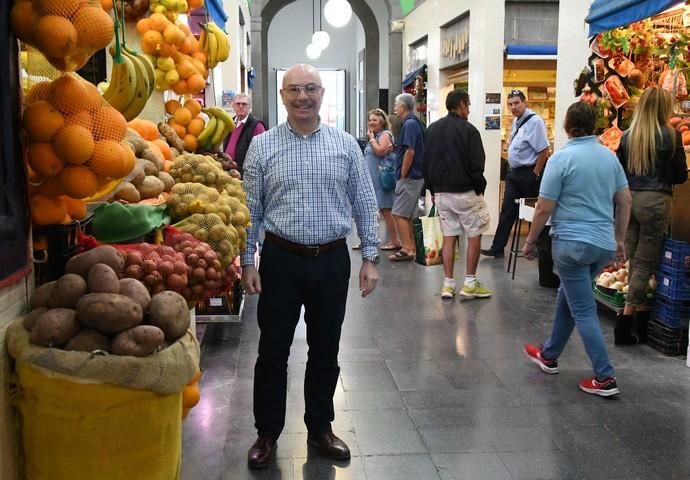
POLYGON ((9 5, 22 114, 4 140, 24 152, 35 282, 7 333, 24 478, 179 478, 201 396, 194 309, 242 297, 234 123, 197 100, 230 55, 226 18, 203 0, 9 5), (97 53, 100 83, 77 73, 97 53))

